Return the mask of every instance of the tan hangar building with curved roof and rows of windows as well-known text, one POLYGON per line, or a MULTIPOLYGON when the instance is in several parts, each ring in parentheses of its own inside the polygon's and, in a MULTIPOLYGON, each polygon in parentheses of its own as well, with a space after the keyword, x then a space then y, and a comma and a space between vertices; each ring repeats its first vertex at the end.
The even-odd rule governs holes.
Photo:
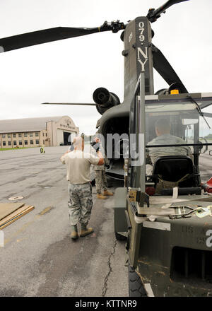
POLYGON ((68 116, 0 120, 0 148, 69 145, 78 132, 68 116))

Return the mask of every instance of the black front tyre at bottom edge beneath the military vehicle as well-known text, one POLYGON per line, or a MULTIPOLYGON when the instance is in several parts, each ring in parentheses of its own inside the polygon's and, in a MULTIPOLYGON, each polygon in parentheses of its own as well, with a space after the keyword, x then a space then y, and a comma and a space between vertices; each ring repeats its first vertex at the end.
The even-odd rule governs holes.
POLYGON ((129 297, 147 297, 139 274, 129 265, 129 297))

